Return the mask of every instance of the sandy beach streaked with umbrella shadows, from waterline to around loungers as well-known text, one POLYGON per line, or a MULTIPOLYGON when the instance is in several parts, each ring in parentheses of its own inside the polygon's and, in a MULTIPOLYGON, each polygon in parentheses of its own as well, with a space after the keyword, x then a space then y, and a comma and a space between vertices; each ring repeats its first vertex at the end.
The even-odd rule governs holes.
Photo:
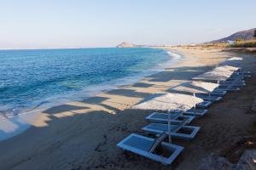
POLYGON ((251 107, 256 99, 256 58, 214 48, 172 49, 185 57, 165 71, 81 102, 55 106, 33 118, 32 127, 24 133, 0 142, 0 169, 196 169, 212 152, 232 157, 230 146, 236 146, 255 128, 251 107), (206 116, 192 123, 201 127, 194 140, 174 140, 185 149, 172 166, 116 147, 130 133, 144 134, 140 129, 148 123, 144 117, 149 112, 131 110, 132 105, 151 94, 166 92, 232 56, 243 56, 244 69, 252 71, 254 77, 247 80, 240 93, 227 94, 210 107, 206 116))

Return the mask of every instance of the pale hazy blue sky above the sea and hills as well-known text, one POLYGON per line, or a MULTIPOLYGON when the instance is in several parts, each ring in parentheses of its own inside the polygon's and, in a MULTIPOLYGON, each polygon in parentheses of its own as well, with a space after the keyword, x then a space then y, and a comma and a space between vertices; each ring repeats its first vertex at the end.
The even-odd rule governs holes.
POLYGON ((0 0, 0 48, 206 42, 256 27, 255 0, 0 0))

